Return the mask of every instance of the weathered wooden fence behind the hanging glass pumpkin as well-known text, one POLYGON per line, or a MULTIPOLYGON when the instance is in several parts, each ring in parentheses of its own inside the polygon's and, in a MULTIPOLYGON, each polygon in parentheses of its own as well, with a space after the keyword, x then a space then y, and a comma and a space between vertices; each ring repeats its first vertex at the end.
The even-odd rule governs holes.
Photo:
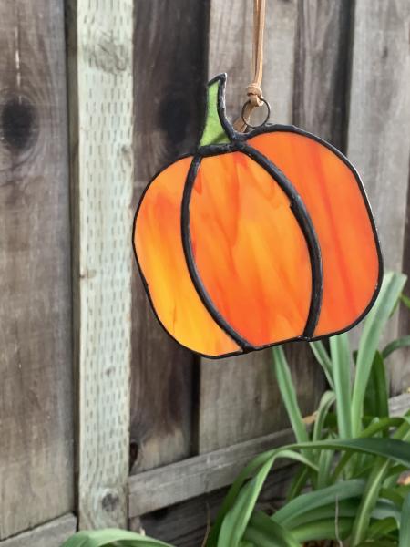
MULTIPOLYGON (((210 362, 177 346, 130 244, 149 178, 199 137, 209 77, 228 72, 238 114, 251 12, 251 0, 0 3, 2 547, 55 547, 77 525, 199 545, 220 489, 289 439, 269 351, 210 362)), ((263 80, 272 121, 354 161, 386 266, 407 272, 409 25, 408 0, 268 0, 263 80)), ((409 329, 403 312, 390 335, 409 329)), ((288 356, 310 413, 323 377, 306 346, 288 356)), ((405 352, 390 366, 404 393, 405 352)), ((269 499, 288 476, 274 474, 269 499)))

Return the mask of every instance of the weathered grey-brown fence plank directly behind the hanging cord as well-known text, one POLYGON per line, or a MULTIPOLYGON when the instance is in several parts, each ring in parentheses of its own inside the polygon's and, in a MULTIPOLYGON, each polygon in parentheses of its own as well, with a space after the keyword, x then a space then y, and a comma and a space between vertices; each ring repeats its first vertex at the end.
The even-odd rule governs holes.
MULTIPOLYGON (((349 3, 268 1, 266 10, 262 88, 272 102, 271 121, 293 122, 343 147, 349 3)), ((236 112, 250 74, 251 19, 251 3, 213 0, 211 4, 210 75, 223 69, 229 76, 232 72, 227 106, 235 111, 236 105, 236 112)), ((287 352, 302 412, 309 413, 323 391, 323 375, 308 346, 288 345, 287 352)), ((286 417, 271 378, 270 360, 268 350, 222 363, 202 362, 200 452, 284 426, 286 417)))

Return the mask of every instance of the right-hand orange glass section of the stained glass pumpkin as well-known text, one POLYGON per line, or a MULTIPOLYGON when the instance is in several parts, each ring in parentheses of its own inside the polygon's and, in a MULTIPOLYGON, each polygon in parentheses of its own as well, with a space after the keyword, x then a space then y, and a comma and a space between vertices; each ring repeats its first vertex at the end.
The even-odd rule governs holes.
POLYGON ((248 144, 292 181, 313 221, 323 261, 323 304, 314 335, 347 328, 370 304, 379 276, 373 227, 353 171, 304 135, 275 131, 248 144))

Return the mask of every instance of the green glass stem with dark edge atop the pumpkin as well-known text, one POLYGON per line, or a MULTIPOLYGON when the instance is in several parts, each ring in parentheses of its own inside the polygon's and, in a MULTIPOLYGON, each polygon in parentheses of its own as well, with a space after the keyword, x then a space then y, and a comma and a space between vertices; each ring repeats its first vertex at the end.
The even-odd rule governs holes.
POLYGON ((220 122, 220 111, 224 109, 225 74, 214 77, 208 84, 207 114, 205 127, 200 138, 200 146, 230 142, 226 131, 220 122))

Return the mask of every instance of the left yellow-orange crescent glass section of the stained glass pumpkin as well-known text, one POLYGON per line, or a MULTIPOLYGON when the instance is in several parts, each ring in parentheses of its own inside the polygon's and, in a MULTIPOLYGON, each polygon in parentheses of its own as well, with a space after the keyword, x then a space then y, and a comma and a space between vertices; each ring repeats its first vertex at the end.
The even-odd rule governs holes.
POLYGON ((190 279, 181 242, 181 201, 192 158, 176 161, 150 184, 135 226, 138 263, 162 325, 183 346, 207 356, 241 348, 220 329, 190 279))

